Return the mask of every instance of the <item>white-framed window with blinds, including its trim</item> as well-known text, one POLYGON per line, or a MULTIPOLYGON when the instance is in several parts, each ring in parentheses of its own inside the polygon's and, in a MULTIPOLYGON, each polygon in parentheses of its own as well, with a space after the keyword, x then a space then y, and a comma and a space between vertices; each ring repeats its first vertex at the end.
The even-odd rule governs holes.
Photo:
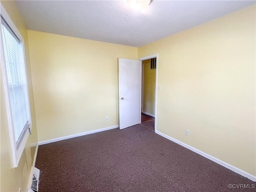
POLYGON ((24 150, 31 128, 24 44, 21 34, 1 8, 1 67, 6 96, 14 167, 24 150), (12 27, 10 27, 12 26, 12 27))

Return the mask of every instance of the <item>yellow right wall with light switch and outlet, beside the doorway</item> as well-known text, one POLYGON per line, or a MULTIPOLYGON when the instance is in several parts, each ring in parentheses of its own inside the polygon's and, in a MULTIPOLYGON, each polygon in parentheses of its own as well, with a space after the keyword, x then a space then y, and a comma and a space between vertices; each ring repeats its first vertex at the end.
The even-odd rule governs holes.
POLYGON ((255 9, 138 48, 159 54, 156 129, 254 176, 255 9))

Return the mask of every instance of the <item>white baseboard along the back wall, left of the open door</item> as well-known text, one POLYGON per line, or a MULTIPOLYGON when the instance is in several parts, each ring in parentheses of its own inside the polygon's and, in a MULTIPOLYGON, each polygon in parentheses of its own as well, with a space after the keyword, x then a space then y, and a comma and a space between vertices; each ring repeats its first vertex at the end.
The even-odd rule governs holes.
POLYGON ((48 143, 52 143, 52 142, 56 142, 56 141, 61 141, 61 140, 70 139, 70 138, 74 138, 74 137, 79 137, 79 136, 84 136, 84 135, 93 134, 93 133, 97 133, 97 132, 102 132, 102 131, 106 131, 106 130, 110 130, 110 129, 115 129, 118 127, 119 127, 119 125, 115 125, 112 127, 106 127, 106 128, 102 128, 102 129, 92 130, 92 131, 69 135, 69 136, 65 136, 65 137, 59 137, 59 138, 55 138, 55 139, 40 141, 40 142, 38 142, 38 145, 44 145, 44 144, 48 144, 48 143))

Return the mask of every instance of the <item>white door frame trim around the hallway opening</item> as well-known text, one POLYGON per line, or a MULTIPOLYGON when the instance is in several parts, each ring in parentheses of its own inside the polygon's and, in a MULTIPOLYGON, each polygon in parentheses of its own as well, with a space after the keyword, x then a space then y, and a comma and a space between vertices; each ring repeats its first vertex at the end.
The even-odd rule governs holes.
MULTIPOLYGON (((157 108, 156 108, 156 106, 157 106, 157 90, 158 90, 158 87, 157 87, 157 82, 158 82, 158 53, 152 54, 152 55, 149 55, 149 56, 145 56, 145 57, 141 57, 141 58, 138 58, 137 60, 144 61, 144 60, 152 59, 152 58, 156 58, 155 125, 154 125, 155 126, 155 132, 156 132, 156 118, 157 118, 157 108)), ((141 82, 141 88, 142 88, 142 80, 140 82, 141 82)), ((142 98, 142 94, 140 94, 140 98, 142 98)), ((141 102, 141 104, 142 104, 142 102, 141 102)), ((140 114, 141 114, 141 111, 142 111, 142 106, 140 107, 140 114)), ((140 118, 140 123, 141 123, 141 118, 140 118)))

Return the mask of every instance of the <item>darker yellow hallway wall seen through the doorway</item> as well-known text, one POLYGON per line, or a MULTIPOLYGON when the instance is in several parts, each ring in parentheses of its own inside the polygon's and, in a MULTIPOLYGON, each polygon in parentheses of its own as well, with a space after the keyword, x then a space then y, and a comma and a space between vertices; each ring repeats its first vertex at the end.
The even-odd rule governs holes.
POLYGON ((150 59, 143 64, 143 105, 142 112, 155 114, 156 69, 150 69, 150 59))

